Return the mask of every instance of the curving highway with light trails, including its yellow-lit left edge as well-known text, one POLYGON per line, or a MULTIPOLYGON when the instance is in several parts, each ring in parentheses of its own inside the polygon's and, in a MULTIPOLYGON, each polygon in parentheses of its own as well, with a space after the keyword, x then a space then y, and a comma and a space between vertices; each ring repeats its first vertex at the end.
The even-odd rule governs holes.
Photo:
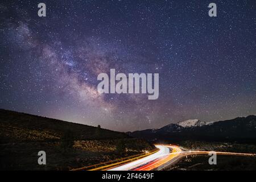
MULTIPOLYGON (((131 157, 123 160, 123 162, 112 162, 105 165, 97 165, 97 167, 82 167, 73 169, 79 171, 88 169, 89 171, 160 171, 171 166, 185 156, 188 155, 208 155, 210 151, 185 151, 179 146, 171 144, 155 144, 159 150, 141 156, 131 157)), ((236 153, 236 152, 216 152, 217 155, 238 155, 238 156, 256 156, 256 154, 236 153)))

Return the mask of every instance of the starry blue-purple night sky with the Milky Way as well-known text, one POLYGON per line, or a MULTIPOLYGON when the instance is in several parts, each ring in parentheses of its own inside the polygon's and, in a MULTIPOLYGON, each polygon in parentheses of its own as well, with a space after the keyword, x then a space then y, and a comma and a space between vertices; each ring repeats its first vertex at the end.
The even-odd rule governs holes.
POLYGON ((1 1, 0 12, 2 109, 117 131, 256 114, 255 0, 1 1), (159 73, 158 100, 98 93, 110 68, 159 73))

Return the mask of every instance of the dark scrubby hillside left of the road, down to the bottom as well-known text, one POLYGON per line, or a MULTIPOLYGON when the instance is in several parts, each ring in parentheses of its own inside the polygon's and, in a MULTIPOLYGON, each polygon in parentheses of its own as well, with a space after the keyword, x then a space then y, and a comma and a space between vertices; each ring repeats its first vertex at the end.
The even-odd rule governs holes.
POLYGON ((0 109, 1 170, 68 170, 154 149, 124 133, 0 109), (46 152, 47 165, 38 164, 46 152))

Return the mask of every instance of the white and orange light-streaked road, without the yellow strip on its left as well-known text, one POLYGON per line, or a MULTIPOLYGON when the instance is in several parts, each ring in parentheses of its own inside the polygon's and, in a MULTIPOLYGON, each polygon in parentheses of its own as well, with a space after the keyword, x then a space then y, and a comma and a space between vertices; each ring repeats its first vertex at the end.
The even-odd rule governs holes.
MULTIPOLYGON (((150 171, 161 170, 167 166, 175 164, 179 159, 188 155, 209 154, 210 151, 183 151, 174 145, 155 145, 159 151, 145 158, 134 160, 126 164, 107 168, 108 171, 150 171)), ((245 154, 236 152, 216 152, 217 155, 240 155, 256 156, 256 154, 245 154)))

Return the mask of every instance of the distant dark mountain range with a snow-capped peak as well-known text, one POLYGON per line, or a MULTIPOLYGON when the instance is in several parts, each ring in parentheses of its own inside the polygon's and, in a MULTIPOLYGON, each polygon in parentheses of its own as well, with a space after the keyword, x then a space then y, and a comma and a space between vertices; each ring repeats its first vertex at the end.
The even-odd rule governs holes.
POLYGON ((256 115, 217 122, 189 119, 178 123, 171 123, 160 129, 147 129, 127 134, 131 137, 155 141, 166 140, 168 142, 205 140, 256 143, 256 115))

